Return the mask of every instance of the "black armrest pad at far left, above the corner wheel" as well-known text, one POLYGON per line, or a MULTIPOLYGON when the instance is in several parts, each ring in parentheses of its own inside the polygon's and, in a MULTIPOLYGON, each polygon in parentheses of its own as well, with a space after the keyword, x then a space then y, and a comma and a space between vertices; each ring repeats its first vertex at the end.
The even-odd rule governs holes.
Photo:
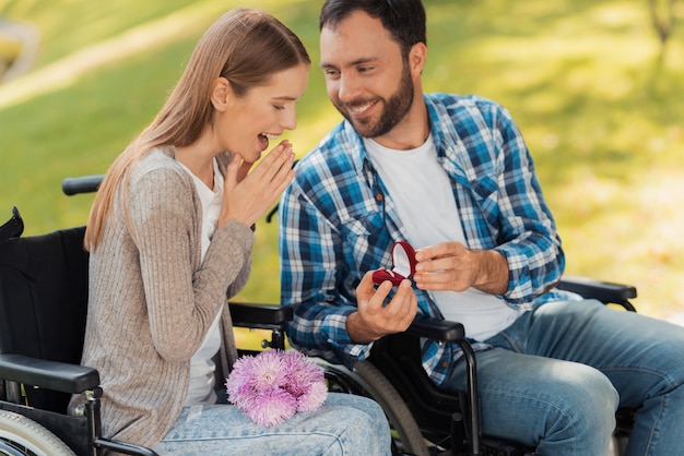
POLYGON ((0 379, 70 394, 99 385, 93 368, 16 353, 0 353, 0 379))

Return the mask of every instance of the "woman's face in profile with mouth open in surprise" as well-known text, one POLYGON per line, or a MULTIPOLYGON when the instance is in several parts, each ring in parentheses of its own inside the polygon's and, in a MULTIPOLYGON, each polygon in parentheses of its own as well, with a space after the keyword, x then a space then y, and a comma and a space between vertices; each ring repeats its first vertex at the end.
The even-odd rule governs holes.
POLYGON ((302 63, 274 73, 268 84, 252 87, 241 97, 231 92, 226 109, 216 117, 221 146, 245 161, 258 160, 270 140, 297 125, 296 104, 308 74, 309 65, 302 63))

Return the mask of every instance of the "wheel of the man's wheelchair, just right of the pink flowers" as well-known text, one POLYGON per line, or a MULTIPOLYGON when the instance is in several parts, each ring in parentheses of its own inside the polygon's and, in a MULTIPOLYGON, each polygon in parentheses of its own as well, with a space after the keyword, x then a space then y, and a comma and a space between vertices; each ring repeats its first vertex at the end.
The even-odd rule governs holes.
POLYGON ((394 445, 403 453, 427 456, 423 434, 397 389, 369 361, 359 361, 351 372, 343 365, 318 361, 326 371, 329 389, 366 396, 377 401, 396 434, 394 445))

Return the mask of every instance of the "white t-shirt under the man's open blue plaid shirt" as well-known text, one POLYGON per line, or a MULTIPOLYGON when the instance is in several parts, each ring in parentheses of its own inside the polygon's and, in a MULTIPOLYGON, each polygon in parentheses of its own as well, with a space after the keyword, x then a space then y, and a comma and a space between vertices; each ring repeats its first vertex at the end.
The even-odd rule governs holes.
MULTIPOLYGON (((414 149, 397 151, 364 139, 399 218, 415 249, 457 241, 468 247, 451 183, 437 160, 432 134, 414 149)), ((520 314, 498 297, 475 288, 463 292, 431 291, 446 320, 460 322, 465 335, 485 340, 508 327, 520 314)))

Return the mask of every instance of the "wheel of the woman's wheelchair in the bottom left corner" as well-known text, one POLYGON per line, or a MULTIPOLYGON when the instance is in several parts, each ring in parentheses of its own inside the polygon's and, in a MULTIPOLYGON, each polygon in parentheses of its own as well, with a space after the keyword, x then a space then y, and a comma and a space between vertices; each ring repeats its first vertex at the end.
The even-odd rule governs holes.
POLYGON ((0 455, 75 456, 55 434, 19 413, 0 410, 0 455))

